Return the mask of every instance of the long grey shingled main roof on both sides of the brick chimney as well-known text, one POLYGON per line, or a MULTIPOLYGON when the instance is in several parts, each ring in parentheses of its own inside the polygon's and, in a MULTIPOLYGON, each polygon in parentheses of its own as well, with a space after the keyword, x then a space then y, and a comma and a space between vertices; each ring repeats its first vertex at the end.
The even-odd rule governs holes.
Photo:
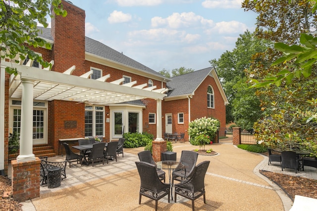
MULTIPOLYGON (((53 42, 53 38, 51 36, 51 28, 39 27, 39 29, 42 30, 42 34, 40 34, 39 37, 53 42)), ((114 50, 113 48, 105 45, 102 42, 98 42, 88 37, 85 37, 85 51, 93 55, 105 58, 107 60, 111 60, 115 63, 123 64, 129 67, 135 68, 139 71, 156 75, 162 79, 168 80, 168 78, 162 76, 161 74, 154 71, 153 69, 131 59, 130 57, 114 50)))

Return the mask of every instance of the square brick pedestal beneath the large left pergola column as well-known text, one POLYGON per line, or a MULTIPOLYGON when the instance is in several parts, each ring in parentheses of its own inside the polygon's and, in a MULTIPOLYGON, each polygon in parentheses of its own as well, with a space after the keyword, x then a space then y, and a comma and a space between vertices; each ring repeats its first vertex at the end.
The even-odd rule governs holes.
POLYGON ((12 166, 12 195, 16 201, 24 202, 40 197, 40 165, 41 160, 17 162, 11 161, 12 166))

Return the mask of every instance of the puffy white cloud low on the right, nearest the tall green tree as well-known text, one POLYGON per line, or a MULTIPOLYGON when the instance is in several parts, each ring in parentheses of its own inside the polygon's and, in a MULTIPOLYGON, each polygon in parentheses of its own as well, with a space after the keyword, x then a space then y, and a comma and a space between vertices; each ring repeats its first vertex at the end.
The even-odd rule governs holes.
POLYGON ((211 29, 211 33, 218 32, 219 34, 243 33, 248 29, 247 25, 238 21, 218 22, 211 29))

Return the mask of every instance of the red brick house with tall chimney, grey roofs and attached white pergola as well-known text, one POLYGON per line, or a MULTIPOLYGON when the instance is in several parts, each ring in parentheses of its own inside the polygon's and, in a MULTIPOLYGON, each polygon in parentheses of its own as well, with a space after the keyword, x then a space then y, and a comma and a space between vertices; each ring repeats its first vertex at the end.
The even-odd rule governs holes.
POLYGON ((52 29, 42 28, 40 36, 53 48, 33 49, 52 61, 52 69, 29 59, 0 61, 0 170, 7 171, 13 131, 21 135, 17 161, 23 162, 42 155, 36 147, 60 154, 60 139, 100 135, 110 141, 122 132, 144 131, 156 140, 164 132, 185 132, 188 139, 189 121, 204 116, 225 127, 228 101, 214 68, 168 79, 85 37, 85 11, 62 3, 68 15, 56 16, 52 29), (19 75, 5 73, 6 66, 19 75))

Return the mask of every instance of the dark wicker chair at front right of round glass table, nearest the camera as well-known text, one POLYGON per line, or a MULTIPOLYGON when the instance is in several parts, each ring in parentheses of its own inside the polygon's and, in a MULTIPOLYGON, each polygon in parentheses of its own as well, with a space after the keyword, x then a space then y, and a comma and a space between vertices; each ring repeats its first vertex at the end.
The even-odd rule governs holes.
POLYGON ((195 200, 204 195, 204 203, 206 204, 205 192, 205 175, 210 161, 204 161, 198 164, 193 171, 193 176, 185 181, 174 185, 175 203, 176 195, 183 196, 192 200, 192 209, 195 210, 195 200))

